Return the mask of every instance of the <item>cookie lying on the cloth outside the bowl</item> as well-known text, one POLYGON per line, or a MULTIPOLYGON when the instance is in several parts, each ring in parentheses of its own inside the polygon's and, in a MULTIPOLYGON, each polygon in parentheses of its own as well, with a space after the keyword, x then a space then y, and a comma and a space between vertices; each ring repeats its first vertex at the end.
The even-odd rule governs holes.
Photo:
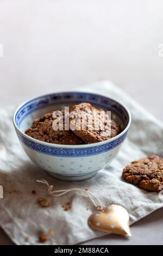
POLYGON ((160 192, 163 185, 163 159, 154 154, 133 161, 123 169, 122 177, 143 190, 160 192))

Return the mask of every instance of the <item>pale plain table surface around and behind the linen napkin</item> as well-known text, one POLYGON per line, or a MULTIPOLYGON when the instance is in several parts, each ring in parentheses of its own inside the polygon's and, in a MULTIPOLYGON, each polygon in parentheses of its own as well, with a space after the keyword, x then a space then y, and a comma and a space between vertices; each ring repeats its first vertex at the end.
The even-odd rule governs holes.
MULTIPOLYGON (((0 107, 108 79, 163 120, 162 8, 162 0, 2 0, 0 107)), ((162 214, 133 224, 130 239, 85 244, 161 245, 162 214)), ((2 229, 0 244, 12 244, 2 229)))

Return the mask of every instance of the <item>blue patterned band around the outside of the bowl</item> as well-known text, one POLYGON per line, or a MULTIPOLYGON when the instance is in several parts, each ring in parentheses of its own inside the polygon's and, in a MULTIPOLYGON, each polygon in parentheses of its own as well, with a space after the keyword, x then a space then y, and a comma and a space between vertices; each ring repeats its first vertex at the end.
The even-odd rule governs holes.
POLYGON ((30 141, 29 139, 23 137, 20 133, 18 133, 18 137, 20 141, 26 144, 27 147, 38 151, 40 153, 52 156, 60 156, 60 157, 78 157, 78 156, 92 156, 104 153, 111 149, 116 148, 120 145, 127 136, 127 132, 124 133, 120 138, 115 139, 115 141, 108 142, 103 145, 88 147, 88 148, 57 148, 45 146, 43 144, 35 143, 30 141))

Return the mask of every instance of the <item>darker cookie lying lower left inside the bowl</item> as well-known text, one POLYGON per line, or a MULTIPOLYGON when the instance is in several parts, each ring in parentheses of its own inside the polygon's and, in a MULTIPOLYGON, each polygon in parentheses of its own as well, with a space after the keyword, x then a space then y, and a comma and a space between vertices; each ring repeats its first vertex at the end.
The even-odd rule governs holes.
MULTIPOLYGON (((64 111, 61 111, 64 117, 64 111)), ((32 126, 25 131, 25 133, 39 141, 65 144, 65 145, 78 145, 84 144, 81 138, 77 137, 71 130, 53 130, 52 113, 47 113, 41 118, 33 121, 32 126)), ((64 129, 64 127, 63 127, 64 129)))

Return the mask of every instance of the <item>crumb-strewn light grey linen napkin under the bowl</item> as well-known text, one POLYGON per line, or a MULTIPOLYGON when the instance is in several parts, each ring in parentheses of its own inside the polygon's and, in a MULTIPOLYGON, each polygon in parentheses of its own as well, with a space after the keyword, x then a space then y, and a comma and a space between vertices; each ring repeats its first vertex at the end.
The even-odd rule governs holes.
POLYGON ((87 220, 95 207, 85 194, 71 192, 52 198, 47 196, 46 186, 36 180, 47 180, 55 190, 88 187, 104 206, 114 203, 126 208, 130 224, 163 206, 158 193, 141 190, 121 178, 123 168, 131 161, 150 153, 163 156, 161 121, 108 81, 96 82, 80 90, 100 92, 125 103, 132 116, 130 131, 116 159, 89 180, 59 181, 36 167, 24 153, 12 125, 15 107, 0 110, 0 185, 4 188, 4 198, 0 199, 0 225, 17 245, 39 244, 40 231, 54 232, 47 236, 47 245, 73 245, 106 234, 88 226, 87 220), (39 197, 46 197, 51 206, 41 208, 37 204, 39 197), (64 211, 61 206, 67 202, 70 202, 70 210, 64 211))

